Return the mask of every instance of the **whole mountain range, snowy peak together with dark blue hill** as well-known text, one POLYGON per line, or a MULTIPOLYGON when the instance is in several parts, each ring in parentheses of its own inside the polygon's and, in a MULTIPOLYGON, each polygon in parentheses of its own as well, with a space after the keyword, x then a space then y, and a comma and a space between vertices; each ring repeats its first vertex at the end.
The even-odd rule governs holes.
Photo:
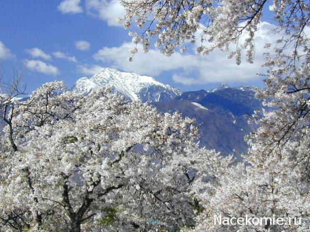
MULTIPOLYGON (((255 86, 229 87, 221 83, 216 89, 181 92, 152 77, 126 75, 124 78, 123 72, 105 68, 91 78, 80 78, 72 89, 88 94, 92 89, 112 86, 126 99, 148 102, 162 114, 177 111, 183 117, 195 118, 201 146, 223 155, 234 154, 241 160, 240 154, 248 148, 244 136, 257 127, 248 119, 254 110, 262 108, 261 101, 255 98, 255 86)), ((5 125, 1 120, 0 131, 5 125)))

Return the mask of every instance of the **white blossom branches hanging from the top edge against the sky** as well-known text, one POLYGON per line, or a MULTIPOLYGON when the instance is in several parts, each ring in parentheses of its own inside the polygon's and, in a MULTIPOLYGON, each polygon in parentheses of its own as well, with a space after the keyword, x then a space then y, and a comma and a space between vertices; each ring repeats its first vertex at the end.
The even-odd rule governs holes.
MULTIPOLYGON (((242 50, 246 50, 247 62, 252 63, 255 33, 263 14, 273 17, 273 33, 279 36, 284 48, 292 50, 294 61, 298 60, 303 49, 308 50, 308 0, 120 2, 125 8, 125 15, 118 20, 127 29, 140 28, 129 34, 133 36, 133 43, 143 45, 144 52, 150 49, 153 42, 168 56, 176 49, 183 52, 194 44, 197 54, 205 55, 214 49, 230 50, 228 56, 235 56, 237 64, 241 62, 242 50)), ((278 52, 283 53, 284 48, 279 48, 278 52)), ((138 46, 130 52, 138 52, 138 46)))

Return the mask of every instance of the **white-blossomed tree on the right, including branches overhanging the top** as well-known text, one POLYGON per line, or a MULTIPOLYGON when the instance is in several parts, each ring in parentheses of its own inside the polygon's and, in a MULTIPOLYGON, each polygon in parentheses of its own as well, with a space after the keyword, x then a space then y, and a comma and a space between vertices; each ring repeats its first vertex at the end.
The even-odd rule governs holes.
MULTIPOLYGON (((230 50, 241 62, 246 50, 253 62, 255 33, 263 14, 273 17, 274 44, 265 45, 265 88, 257 97, 266 110, 253 120, 259 129, 247 138, 244 163, 231 166, 207 194, 205 209, 189 231, 306 231, 309 229, 310 2, 300 0, 145 1, 121 0, 120 19, 144 51, 151 42, 165 55, 194 44, 196 53, 230 50), (135 22, 133 22, 135 21, 135 22), (234 47, 235 45, 235 47, 234 47), (210 194, 211 193, 211 194, 210 194), (227 217, 301 217, 301 225, 214 225, 213 215, 227 217)), ((138 47, 137 47, 138 48, 138 47)), ((138 49, 132 49, 135 54, 138 49)), ((132 58, 131 58, 132 59, 132 58)), ((206 183, 202 183, 204 185, 206 183)))

